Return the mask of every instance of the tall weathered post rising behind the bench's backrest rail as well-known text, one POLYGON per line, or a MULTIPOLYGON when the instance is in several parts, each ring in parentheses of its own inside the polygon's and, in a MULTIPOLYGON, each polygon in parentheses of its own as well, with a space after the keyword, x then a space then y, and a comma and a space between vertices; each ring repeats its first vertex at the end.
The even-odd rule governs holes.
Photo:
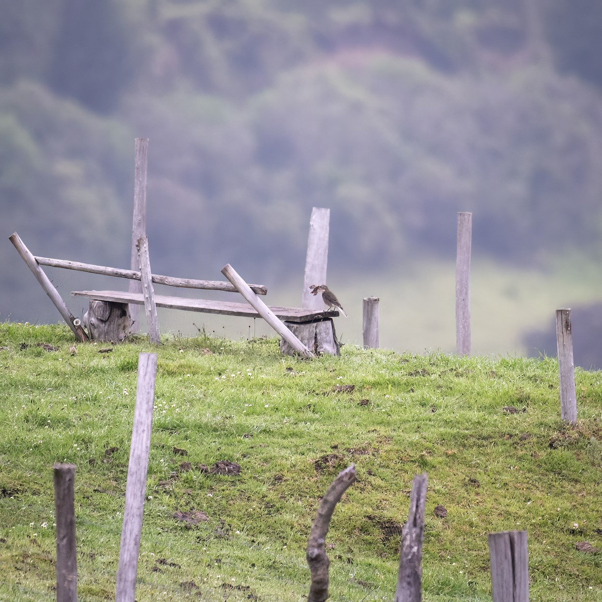
MULTIPOLYGON (((132 218, 132 253, 130 267, 138 270, 138 239, 146 236, 146 173, 148 163, 148 138, 136 138, 134 147, 134 217, 132 218)), ((142 285, 138 281, 129 282, 130 293, 141 293, 142 285)), ((138 314, 140 308, 137 305, 129 306, 129 313, 134 323, 134 329, 138 327, 138 314)))

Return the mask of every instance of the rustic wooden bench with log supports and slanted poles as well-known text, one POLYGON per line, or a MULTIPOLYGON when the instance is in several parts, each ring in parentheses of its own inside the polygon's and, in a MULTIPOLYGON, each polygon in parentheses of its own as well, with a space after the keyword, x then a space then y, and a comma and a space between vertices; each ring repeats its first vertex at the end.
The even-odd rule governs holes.
MULTIPOLYGON (((122 270, 102 265, 83 264, 64 259, 34 256, 29 252, 16 233, 10 237, 10 240, 40 284, 42 284, 46 294, 48 294, 55 306, 57 306, 57 309, 63 315, 64 320, 69 324, 76 337, 82 341, 88 338, 104 341, 124 340, 132 327, 129 306, 143 305, 146 309, 147 318, 151 316, 149 308, 157 307, 208 314, 252 318, 261 317, 281 335, 281 352, 286 355, 293 355, 293 353, 301 353, 301 355, 306 356, 312 356, 317 353, 339 354, 340 346, 335 335, 334 323, 332 323, 332 318, 339 315, 338 311, 320 311, 316 309, 280 306, 268 307, 259 299, 260 295, 267 294, 267 288, 262 285, 246 284, 230 265, 226 265, 222 270, 222 273, 230 282, 173 278, 171 276, 151 274, 150 264, 147 259, 147 247, 145 249, 144 246, 140 250, 140 272, 135 272, 133 270, 122 270), (113 290, 73 291, 73 296, 87 297, 90 300, 88 312, 84 316, 84 326, 88 330, 86 333, 81 327, 81 321, 73 317, 66 308, 58 291, 49 281, 42 267, 40 267, 41 265, 138 280, 143 284, 143 293, 113 290), (172 287, 238 292, 243 295, 247 302, 237 303, 155 295, 152 283, 172 287)), ((154 314, 156 321, 156 309, 154 314)), ((155 324, 155 329, 155 339, 152 337, 151 329, 149 329, 149 335, 151 336, 151 341, 154 340, 155 343, 158 343, 158 323, 155 324)))

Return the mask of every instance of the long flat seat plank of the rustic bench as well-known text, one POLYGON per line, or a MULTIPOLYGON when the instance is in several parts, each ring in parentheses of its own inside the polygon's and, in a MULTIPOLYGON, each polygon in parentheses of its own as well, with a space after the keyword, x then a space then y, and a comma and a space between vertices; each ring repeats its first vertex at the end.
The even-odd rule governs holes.
MULTIPOLYGON (((135 303, 144 305, 141 293, 123 293, 122 291, 73 291, 74 297, 88 297, 99 301, 114 301, 117 303, 135 303)), ((167 295, 155 295, 155 305, 167 309, 183 309, 184 311, 198 311, 205 314, 238 315, 249 318, 261 317, 248 303, 233 303, 229 301, 216 301, 212 299, 185 299, 167 295)), ((339 315, 338 311, 315 311, 300 307, 274 307, 270 309, 281 319, 290 322, 308 322, 323 320, 339 315)))

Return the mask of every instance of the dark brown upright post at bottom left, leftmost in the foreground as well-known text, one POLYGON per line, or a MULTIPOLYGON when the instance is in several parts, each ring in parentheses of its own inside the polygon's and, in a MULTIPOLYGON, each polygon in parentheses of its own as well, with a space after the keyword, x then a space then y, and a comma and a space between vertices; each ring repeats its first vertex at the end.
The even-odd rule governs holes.
POLYGON ((74 464, 55 464, 54 507, 57 517, 57 602, 77 601, 75 556, 74 464))

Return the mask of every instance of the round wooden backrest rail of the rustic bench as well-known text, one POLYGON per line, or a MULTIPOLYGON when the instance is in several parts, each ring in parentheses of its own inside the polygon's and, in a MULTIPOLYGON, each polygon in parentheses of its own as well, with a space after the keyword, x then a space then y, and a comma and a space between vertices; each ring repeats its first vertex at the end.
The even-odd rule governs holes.
MULTIPOLYGON (((140 272, 134 270, 122 270, 118 267, 107 267, 105 265, 86 264, 79 261, 69 261, 67 259, 54 259, 51 257, 35 256, 40 265, 48 267, 59 267, 65 270, 76 270, 77 272, 88 272, 91 274, 100 274, 102 276, 115 276, 116 278, 128 278, 130 280, 140 280, 140 272)), ((191 278, 173 278, 173 276, 162 276, 153 274, 154 284, 164 284, 168 287, 194 288, 208 291, 225 291, 226 293, 238 293, 236 287, 230 282, 219 280, 195 280, 191 278)), ((267 294, 267 288, 262 284, 249 284, 253 293, 258 295, 267 294)), ((139 291, 141 292, 141 291, 139 291)))

